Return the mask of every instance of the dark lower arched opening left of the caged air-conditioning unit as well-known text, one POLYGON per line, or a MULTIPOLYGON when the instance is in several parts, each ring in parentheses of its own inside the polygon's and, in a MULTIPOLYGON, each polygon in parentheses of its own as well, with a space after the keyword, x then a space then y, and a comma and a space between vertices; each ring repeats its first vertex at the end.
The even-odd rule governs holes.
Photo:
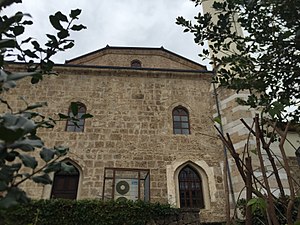
POLYGON ((79 171, 72 163, 66 164, 73 166, 74 171, 71 173, 59 171, 54 174, 51 198, 76 199, 77 197, 79 171))

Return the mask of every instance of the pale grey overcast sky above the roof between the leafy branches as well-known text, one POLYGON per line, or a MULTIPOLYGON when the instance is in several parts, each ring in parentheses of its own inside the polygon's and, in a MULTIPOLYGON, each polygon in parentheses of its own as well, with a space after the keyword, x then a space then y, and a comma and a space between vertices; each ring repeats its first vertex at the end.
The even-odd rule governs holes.
POLYGON ((87 30, 75 32, 75 46, 54 58, 64 63, 82 54, 110 46, 161 47, 204 64, 198 57, 200 47, 194 43, 193 35, 183 33, 175 24, 176 17, 193 19, 199 7, 189 0, 23 0, 4 10, 12 13, 20 10, 30 13, 34 24, 27 34, 39 42, 46 40, 45 33, 55 32, 48 16, 56 11, 68 14, 80 8, 80 23, 87 30))

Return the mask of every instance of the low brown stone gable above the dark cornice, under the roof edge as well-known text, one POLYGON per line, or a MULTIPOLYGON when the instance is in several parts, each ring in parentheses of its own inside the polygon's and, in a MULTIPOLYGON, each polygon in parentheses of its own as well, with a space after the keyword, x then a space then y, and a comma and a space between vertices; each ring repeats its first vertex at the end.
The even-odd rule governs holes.
POLYGON ((136 60, 143 68, 206 70, 206 67, 163 47, 111 47, 67 60, 66 64, 86 66, 131 67, 136 60))

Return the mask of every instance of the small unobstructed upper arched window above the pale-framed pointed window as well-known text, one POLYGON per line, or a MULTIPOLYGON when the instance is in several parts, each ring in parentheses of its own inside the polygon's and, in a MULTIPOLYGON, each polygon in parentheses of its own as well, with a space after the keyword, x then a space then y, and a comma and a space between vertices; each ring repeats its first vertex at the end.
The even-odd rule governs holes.
POLYGON ((190 134, 189 113, 186 108, 178 106, 173 109, 173 133, 190 134))

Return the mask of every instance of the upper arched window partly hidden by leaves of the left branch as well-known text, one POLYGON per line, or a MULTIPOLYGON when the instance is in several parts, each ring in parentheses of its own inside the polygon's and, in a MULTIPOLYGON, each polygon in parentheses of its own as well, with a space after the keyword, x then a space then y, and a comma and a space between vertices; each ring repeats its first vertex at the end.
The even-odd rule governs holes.
POLYGON ((76 121, 76 123, 74 123, 73 121, 68 120, 67 124, 66 124, 66 131, 83 132, 84 119, 81 117, 82 117, 82 115, 84 115, 86 113, 86 107, 81 102, 71 103, 71 105, 69 107, 69 116, 73 116, 72 107, 77 107, 77 115, 75 116, 75 118, 78 119, 78 121, 76 121))

